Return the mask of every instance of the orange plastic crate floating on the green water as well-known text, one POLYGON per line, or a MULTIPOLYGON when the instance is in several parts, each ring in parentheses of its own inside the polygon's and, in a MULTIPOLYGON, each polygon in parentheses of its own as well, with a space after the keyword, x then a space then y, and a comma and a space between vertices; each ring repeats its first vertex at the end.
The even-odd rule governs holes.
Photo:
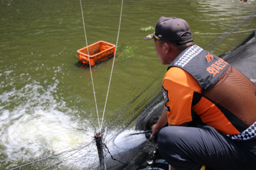
POLYGON ((77 50, 79 62, 94 66, 96 63, 103 62, 115 55, 116 45, 107 43, 105 41, 98 41, 97 43, 86 46, 83 49, 77 50), (88 51, 89 49, 89 56, 88 51))

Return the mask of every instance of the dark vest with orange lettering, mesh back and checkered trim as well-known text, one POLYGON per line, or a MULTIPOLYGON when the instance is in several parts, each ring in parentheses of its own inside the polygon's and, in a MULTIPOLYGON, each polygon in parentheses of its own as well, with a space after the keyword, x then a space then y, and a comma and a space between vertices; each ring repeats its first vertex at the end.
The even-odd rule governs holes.
POLYGON ((225 115, 239 134, 225 134, 231 139, 256 138, 256 86, 225 60, 197 45, 190 46, 168 67, 179 67, 191 74, 202 88, 196 105, 207 98, 225 115))

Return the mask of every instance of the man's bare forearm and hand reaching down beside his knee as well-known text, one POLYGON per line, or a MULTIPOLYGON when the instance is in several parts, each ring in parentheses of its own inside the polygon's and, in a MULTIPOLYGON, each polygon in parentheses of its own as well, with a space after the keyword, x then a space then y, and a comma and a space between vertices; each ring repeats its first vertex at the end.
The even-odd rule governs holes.
MULTIPOLYGON (((162 115, 160 116, 160 118, 158 119, 157 121, 157 124, 154 124, 151 129, 153 130, 152 131, 152 134, 150 136, 153 137, 154 135, 158 134, 159 131, 161 129, 164 128, 164 126, 166 126, 166 124, 168 123, 168 117, 167 117, 167 112, 166 112, 166 108, 165 106, 163 106, 163 111, 162 111, 162 115)), ((168 124, 168 126, 174 126, 174 125, 171 125, 171 124, 168 124)), ((189 126, 188 122, 185 122, 179 126, 189 126)))

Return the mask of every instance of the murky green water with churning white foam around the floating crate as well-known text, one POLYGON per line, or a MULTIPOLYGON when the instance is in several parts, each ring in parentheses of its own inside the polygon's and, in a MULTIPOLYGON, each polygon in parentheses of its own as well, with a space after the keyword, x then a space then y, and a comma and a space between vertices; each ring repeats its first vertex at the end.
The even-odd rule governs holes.
POLYGON ((162 112, 167 65, 143 38, 159 17, 175 16, 188 21, 195 44, 227 54, 253 34, 255 4, 1 0, 1 169, 161 167, 156 141, 146 134, 162 112), (89 55, 112 44, 116 51, 95 56, 94 64, 77 53, 98 41, 89 55))

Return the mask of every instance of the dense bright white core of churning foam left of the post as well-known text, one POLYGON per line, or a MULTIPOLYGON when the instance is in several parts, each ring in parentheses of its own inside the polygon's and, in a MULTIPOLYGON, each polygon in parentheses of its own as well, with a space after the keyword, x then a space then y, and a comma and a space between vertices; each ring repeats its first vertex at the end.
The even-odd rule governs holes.
POLYGON ((1 141, 11 159, 39 158, 44 152, 60 153, 92 140, 91 134, 76 130, 60 111, 2 111, 1 141), (15 157, 17 155, 17 158, 15 157))

